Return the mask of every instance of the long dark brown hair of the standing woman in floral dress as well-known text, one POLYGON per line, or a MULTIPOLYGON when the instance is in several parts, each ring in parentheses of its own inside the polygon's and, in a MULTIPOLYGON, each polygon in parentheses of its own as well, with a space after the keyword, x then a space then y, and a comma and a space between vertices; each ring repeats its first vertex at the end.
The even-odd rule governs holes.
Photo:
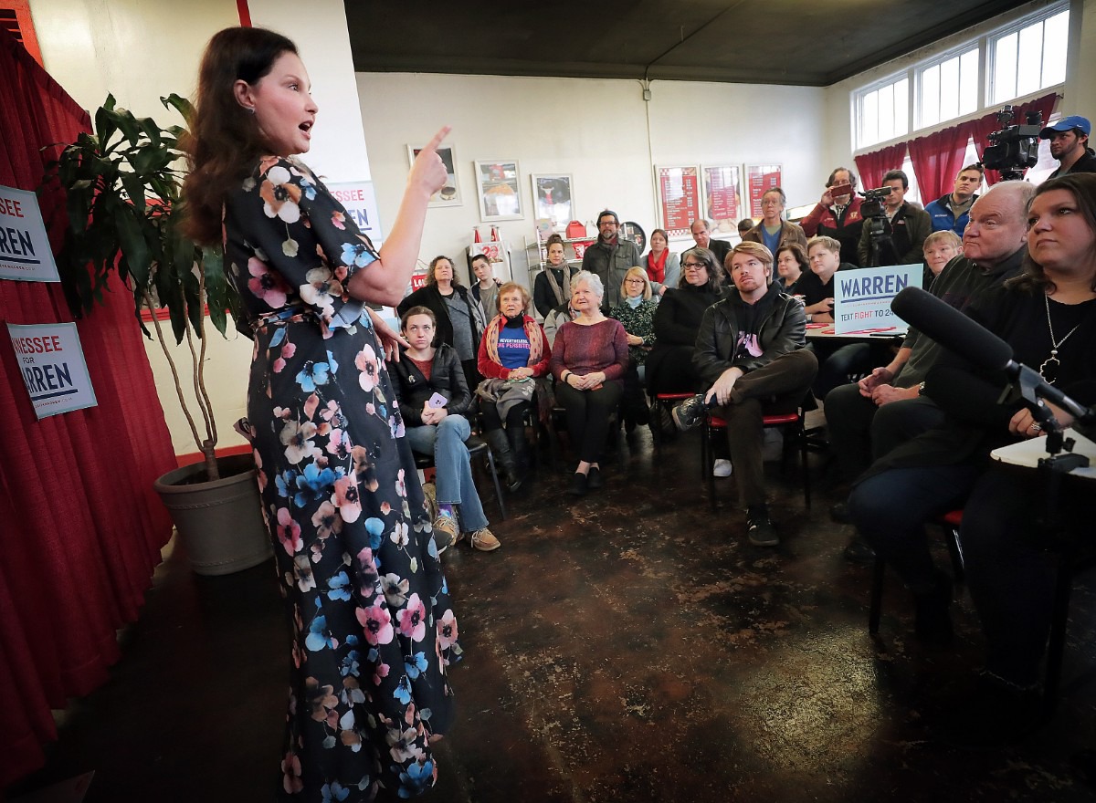
POLYGON ((184 230, 195 242, 221 241, 225 197, 269 151, 254 114, 237 102, 233 84, 255 84, 286 53, 297 53, 297 46, 261 27, 225 28, 206 45, 191 134, 182 142, 191 163, 183 183, 184 230))

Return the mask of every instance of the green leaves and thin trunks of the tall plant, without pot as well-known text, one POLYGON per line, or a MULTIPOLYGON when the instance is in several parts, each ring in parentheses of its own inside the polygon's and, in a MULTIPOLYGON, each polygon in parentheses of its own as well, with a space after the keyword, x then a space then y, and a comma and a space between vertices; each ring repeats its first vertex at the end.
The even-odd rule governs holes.
MULTIPOLYGON (((160 102, 190 122, 193 107, 185 97, 171 94, 160 102)), ((181 231, 183 135, 184 128, 163 128, 151 117, 136 117, 107 95, 95 112, 94 131, 64 146, 47 168, 44 187, 57 182, 66 193, 65 243, 57 267, 73 316, 89 314, 102 301, 110 273, 116 271, 133 291, 134 314, 150 339, 141 313, 151 312, 155 339, 213 480, 219 477, 217 425, 205 389, 205 316, 208 309, 209 320, 224 335, 227 312, 237 309, 239 299, 225 280, 220 250, 201 248, 181 231), (167 310, 175 344, 186 341, 204 436, 183 394, 159 310, 167 310)))

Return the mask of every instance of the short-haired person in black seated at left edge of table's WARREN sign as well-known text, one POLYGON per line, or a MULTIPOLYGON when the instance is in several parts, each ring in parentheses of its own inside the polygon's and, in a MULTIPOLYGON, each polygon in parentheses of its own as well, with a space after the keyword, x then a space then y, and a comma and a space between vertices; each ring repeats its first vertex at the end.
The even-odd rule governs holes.
MULTIPOLYGON (((807 256, 811 264, 810 273, 804 273, 796 286, 796 291, 803 297, 807 320, 833 323, 833 277, 837 271, 848 271, 856 266, 841 262, 841 243, 832 237, 812 237, 807 246, 807 256)), ((815 339, 810 348, 819 359, 819 372, 813 387, 818 399, 825 399, 831 390, 847 382, 849 375, 871 367, 871 347, 867 343, 815 339)))

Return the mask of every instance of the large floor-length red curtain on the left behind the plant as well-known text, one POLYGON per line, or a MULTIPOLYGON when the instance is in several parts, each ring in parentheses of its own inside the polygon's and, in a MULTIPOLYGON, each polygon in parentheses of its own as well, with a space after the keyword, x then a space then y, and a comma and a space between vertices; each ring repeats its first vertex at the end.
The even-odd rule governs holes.
MULTIPOLYGON (((0 184, 33 191, 41 149, 90 118, 3 30, 0 74, 0 184)), ((61 222, 57 193, 39 203, 61 222)), ((5 324, 72 317, 58 285, 0 280, 0 785, 43 762, 50 708, 106 679, 115 631, 136 619, 171 536, 151 487, 175 467, 171 438, 132 296, 116 285, 105 297, 78 322, 98 406, 38 421, 5 324)))

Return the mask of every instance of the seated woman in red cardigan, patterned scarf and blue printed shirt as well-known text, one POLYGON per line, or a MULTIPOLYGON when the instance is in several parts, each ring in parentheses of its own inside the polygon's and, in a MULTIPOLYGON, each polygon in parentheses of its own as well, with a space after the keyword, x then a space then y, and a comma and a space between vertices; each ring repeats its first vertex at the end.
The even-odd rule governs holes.
POLYGON ((551 357, 544 329, 526 314, 528 306, 528 290, 516 282, 500 287, 499 313, 487 324, 479 351, 484 379, 476 392, 483 433, 511 491, 520 489, 528 474, 525 415, 538 390, 536 380, 548 374, 551 357))

